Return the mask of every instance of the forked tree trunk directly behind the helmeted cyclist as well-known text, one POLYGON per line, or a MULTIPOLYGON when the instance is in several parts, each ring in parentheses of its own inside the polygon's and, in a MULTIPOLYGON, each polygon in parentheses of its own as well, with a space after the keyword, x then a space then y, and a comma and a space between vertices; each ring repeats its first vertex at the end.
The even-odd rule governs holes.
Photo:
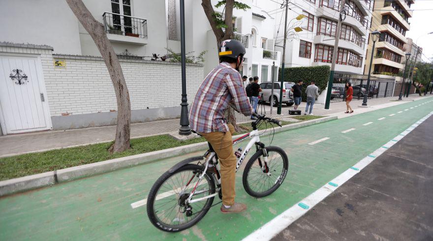
MULTIPOLYGON (((233 4, 234 0, 227 0, 225 4, 225 15, 224 15, 224 22, 227 27, 225 28, 225 32, 222 31, 221 28, 216 27, 216 21, 214 18, 214 7, 212 6, 211 0, 202 0, 201 5, 203 6, 203 10, 205 11, 206 17, 208 18, 209 24, 212 27, 212 30, 214 31, 215 37, 216 37, 216 49, 219 49, 219 44, 226 40, 230 39, 233 36, 233 25, 232 25, 232 18, 233 18, 233 4)), ((228 106, 224 110, 224 118, 227 119, 228 123, 231 123, 235 127, 236 132, 240 132, 241 129, 236 124, 236 116, 235 116, 235 110, 228 106)))

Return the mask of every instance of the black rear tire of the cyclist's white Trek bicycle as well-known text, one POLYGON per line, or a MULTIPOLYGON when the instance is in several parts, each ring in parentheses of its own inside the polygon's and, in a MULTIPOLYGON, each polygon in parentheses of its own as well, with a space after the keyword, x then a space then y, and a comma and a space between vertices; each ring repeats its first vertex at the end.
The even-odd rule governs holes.
MULTIPOLYGON (((179 168, 178 170, 176 170, 173 173, 165 172, 164 174, 162 174, 158 178, 158 180, 156 180, 154 186, 152 186, 151 191, 149 192, 149 196, 148 196, 148 199, 147 199, 147 214, 148 214, 148 217, 149 217, 149 220, 151 221, 151 223, 156 228, 158 228, 158 229, 160 229, 162 231, 173 232, 174 233, 174 232, 180 232, 182 230, 185 230, 185 229, 188 229, 188 228, 194 226, 197 222, 199 222, 207 214, 207 212, 209 211, 209 209, 212 206, 212 203, 214 202, 214 197, 209 198, 209 201, 207 202, 206 206, 203 208, 203 212, 201 214, 199 214, 194 219, 194 221, 188 222, 188 223, 186 223, 184 225, 181 225, 179 228, 174 229, 172 227, 164 226, 163 224, 161 224, 161 223, 158 222, 158 220, 156 218, 156 215, 154 213, 154 210, 153 210, 153 205, 154 205, 154 202, 155 202, 155 196, 156 196, 157 191, 159 190, 160 186, 168 178, 170 178, 171 176, 175 175, 176 173, 179 173, 181 171, 185 171, 185 170, 188 170, 188 169, 190 169, 191 171, 192 170, 197 170, 197 169, 203 170, 203 166, 196 165, 196 164, 186 164, 185 166, 182 166, 181 168, 179 168)), ((208 177, 207 179, 210 181, 210 184, 212 186, 212 194, 213 194, 213 193, 215 193, 215 187, 216 187, 215 186, 215 181, 208 174, 205 174, 205 178, 206 177, 208 177)))

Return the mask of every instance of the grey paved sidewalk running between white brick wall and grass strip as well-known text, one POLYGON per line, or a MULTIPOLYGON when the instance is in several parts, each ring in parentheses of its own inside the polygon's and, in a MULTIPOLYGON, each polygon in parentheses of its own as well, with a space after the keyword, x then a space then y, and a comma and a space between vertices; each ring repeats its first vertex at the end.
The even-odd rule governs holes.
MULTIPOLYGON (((428 95, 426 97, 430 97, 428 95)), ((391 107, 406 103, 407 101, 417 100, 420 98, 418 94, 410 95, 404 98, 403 101, 397 100, 398 97, 370 99, 368 104, 371 108, 358 108, 362 104, 362 100, 352 101, 351 106, 354 109, 353 114, 344 114, 346 105, 344 102, 331 103, 330 109, 324 109, 324 105, 315 104, 313 109, 314 115, 335 115, 338 118, 352 116, 354 114, 365 113, 379 108, 391 107)), ((305 104, 301 103, 299 109, 304 113, 305 104)), ((287 116, 287 111, 293 107, 283 106, 281 115, 277 115, 277 108, 273 108, 273 117, 287 116)), ((270 106, 265 105, 263 110, 258 109, 259 113, 270 114, 270 106)), ((238 122, 247 122, 249 117, 238 115, 238 122)), ((158 134, 169 134, 179 130, 179 119, 161 120, 145 123, 131 124, 131 138, 139 138, 158 134)), ((52 149, 60 149, 66 147, 82 146, 88 144, 109 142, 114 140, 116 134, 116 126, 91 127, 73 130, 61 131, 44 131, 28 134, 11 134, 0 136, 0 158, 14 156, 19 154, 41 152, 52 149)))

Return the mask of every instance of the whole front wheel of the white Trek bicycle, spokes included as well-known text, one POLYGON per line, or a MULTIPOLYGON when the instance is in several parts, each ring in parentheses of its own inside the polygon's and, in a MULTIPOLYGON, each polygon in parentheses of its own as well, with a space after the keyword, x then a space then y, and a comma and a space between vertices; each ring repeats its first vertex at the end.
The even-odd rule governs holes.
POLYGON ((265 147, 268 162, 263 151, 256 152, 247 162, 242 182, 245 191, 253 197, 265 197, 273 193, 284 181, 289 161, 283 149, 277 146, 265 147))

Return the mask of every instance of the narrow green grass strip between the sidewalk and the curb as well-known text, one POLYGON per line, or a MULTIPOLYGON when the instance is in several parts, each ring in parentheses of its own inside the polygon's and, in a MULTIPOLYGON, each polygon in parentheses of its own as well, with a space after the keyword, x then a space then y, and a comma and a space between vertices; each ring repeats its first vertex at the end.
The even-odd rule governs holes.
MULTIPOLYGON (((282 125, 294 123, 289 121, 281 122, 282 125)), ((235 135, 244 134, 252 130, 250 123, 244 123, 239 126, 243 131, 240 133, 235 133, 235 135)), ((270 124, 268 124, 267 127, 271 128, 270 124)), ((257 129, 263 130, 265 128, 266 125, 262 124, 257 129)), ((203 137, 185 141, 178 141, 168 134, 163 134, 131 139, 131 148, 120 153, 111 154, 108 151, 108 148, 113 144, 113 142, 107 142, 6 157, 0 159, 0 181, 43 173, 47 171, 59 170, 78 165, 90 164, 98 161, 106 161, 121 157, 159 151, 163 149, 184 146, 203 141, 205 141, 203 137)))

